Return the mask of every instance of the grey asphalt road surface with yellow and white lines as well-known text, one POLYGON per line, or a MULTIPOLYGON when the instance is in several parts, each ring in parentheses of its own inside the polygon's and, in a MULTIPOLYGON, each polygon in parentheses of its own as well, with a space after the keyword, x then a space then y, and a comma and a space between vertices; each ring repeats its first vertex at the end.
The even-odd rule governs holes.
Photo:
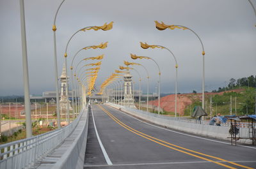
POLYGON ((92 106, 87 142, 86 169, 256 168, 255 146, 162 128, 106 105, 92 106))

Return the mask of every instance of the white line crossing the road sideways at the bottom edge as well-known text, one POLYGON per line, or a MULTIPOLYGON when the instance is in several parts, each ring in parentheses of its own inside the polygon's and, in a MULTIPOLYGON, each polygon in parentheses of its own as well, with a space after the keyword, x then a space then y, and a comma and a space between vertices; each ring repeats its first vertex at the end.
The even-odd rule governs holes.
MULTIPOLYGON (((227 161, 216 161, 218 163, 228 163, 227 161)), ((256 161, 229 161, 233 163, 256 163, 256 161)), ((175 164, 193 164, 193 163, 212 163, 211 161, 177 161, 177 162, 166 162, 166 163, 131 163, 131 164, 116 164, 113 166, 140 166, 140 165, 175 165, 175 164)), ((99 167, 108 165, 84 165, 84 167, 99 167)))

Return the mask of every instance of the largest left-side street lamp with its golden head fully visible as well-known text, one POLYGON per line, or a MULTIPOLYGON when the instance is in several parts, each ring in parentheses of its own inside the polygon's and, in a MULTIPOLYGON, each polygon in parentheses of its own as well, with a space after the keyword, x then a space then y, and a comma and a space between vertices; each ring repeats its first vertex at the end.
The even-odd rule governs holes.
MULTIPOLYGON (((98 31, 99 29, 101 29, 102 31, 108 31, 110 29, 112 29, 113 27, 113 22, 110 22, 109 24, 104 24, 103 26, 88 26, 88 27, 83 27, 82 29, 79 29, 78 31, 76 31, 76 33, 72 34, 72 36, 69 38, 68 43, 66 45, 66 49, 65 49, 65 67, 67 68, 67 48, 68 48, 68 44, 70 43, 70 40, 72 40, 72 38, 79 33, 80 31, 87 31, 87 30, 94 30, 94 31, 98 31)), ((103 47, 103 44, 102 44, 103 47)), ((68 73, 67 73, 68 74, 68 73)), ((68 75, 66 74, 66 80, 68 80, 68 75)), ((67 81, 68 82, 68 81, 67 81)), ((66 86, 66 91, 67 91, 67 99, 68 99, 68 83, 66 86)), ((67 115, 68 115, 68 124, 70 123, 70 119, 69 119, 69 107, 67 104, 67 115)))

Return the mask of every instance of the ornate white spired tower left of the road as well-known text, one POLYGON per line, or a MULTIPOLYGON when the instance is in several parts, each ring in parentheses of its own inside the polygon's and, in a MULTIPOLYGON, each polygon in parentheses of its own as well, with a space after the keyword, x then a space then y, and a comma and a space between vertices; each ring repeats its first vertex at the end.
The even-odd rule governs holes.
POLYGON ((69 110, 72 110, 72 107, 70 107, 70 101, 67 98, 68 90, 67 90, 66 76, 67 76, 67 71, 64 64, 62 68, 62 73, 60 76, 60 82, 61 82, 60 110, 67 110, 67 106, 69 107, 69 110))

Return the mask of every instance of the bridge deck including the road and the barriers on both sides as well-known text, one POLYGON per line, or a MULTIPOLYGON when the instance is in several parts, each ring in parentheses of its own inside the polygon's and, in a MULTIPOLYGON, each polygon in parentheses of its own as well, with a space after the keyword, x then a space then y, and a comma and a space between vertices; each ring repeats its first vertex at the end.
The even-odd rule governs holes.
POLYGON ((93 104, 64 128, 1 145, 0 168, 255 168, 256 147, 230 145, 228 129, 93 104))

